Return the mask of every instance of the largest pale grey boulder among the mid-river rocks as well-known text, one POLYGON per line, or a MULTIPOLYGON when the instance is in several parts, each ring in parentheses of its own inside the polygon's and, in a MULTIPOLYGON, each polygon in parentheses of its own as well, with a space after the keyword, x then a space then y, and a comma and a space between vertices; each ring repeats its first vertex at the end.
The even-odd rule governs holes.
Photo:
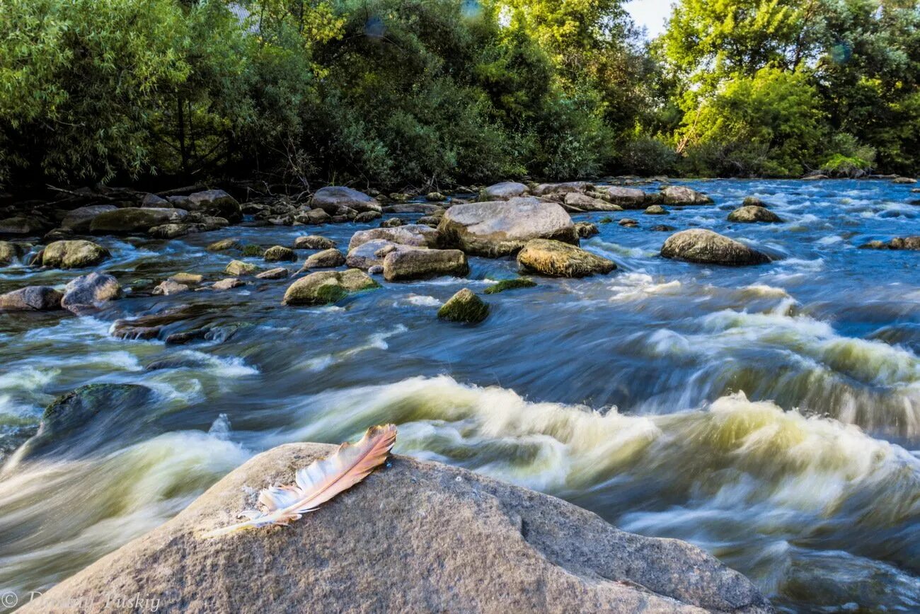
POLYGON ((491 257, 514 254, 531 239, 579 242, 566 210, 530 198, 454 205, 444 213, 438 232, 445 247, 491 257))

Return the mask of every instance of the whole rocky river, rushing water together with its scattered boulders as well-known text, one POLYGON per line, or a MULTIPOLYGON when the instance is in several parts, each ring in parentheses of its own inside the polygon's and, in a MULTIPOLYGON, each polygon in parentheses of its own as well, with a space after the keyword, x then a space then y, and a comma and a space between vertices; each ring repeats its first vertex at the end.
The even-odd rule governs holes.
POLYGON ((0 588, 393 421, 397 452, 690 541, 779 608, 916 606, 913 186, 619 184, 0 221, 0 588))

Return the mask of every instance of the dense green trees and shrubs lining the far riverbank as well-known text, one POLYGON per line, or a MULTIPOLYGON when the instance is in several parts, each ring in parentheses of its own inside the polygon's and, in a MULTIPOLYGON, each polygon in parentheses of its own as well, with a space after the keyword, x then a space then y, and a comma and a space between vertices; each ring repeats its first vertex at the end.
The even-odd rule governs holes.
POLYGON ((920 12, 682 0, 0 0, 0 187, 920 168, 920 12))

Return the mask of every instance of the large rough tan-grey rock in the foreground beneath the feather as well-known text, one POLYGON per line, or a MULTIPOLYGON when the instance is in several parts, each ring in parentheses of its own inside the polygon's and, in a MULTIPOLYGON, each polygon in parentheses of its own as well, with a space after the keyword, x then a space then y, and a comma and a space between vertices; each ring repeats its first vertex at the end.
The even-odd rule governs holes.
POLYGON ((20 611, 116 611, 112 595, 156 598, 164 612, 772 611, 750 581, 695 546, 399 456, 289 527, 201 537, 236 522, 260 488, 292 483, 296 469, 334 449, 259 454, 20 611))

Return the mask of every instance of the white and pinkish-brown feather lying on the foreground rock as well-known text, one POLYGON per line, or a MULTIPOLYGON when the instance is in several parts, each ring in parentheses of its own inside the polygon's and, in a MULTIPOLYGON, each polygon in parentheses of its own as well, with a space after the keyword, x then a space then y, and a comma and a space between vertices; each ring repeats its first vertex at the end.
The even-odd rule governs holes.
POLYGON ((243 529, 269 525, 288 525, 307 512, 326 503, 356 483, 361 482, 386 460, 397 440, 396 425, 372 426, 358 443, 343 443, 334 454, 316 460, 297 471, 294 483, 271 486, 259 493, 264 512, 245 510, 240 516, 249 519, 230 527, 206 533, 210 538, 243 529))

